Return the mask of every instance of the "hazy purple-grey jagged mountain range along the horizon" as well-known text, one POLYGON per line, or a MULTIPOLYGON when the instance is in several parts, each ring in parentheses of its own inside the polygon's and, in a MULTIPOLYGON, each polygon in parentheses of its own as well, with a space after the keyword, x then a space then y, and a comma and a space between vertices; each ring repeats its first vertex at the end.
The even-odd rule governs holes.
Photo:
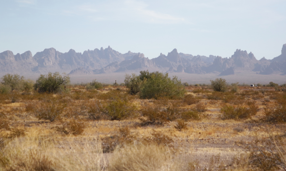
POLYGON ((66 72, 69 74, 101 74, 120 72, 139 72, 141 70, 178 72, 178 73, 217 73, 231 75, 239 72, 256 72, 257 74, 286 74, 286 44, 281 55, 267 60, 257 60, 254 54, 236 50, 229 58, 220 56, 193 56, 178 53, 177 49, 167 55, 160 54, 157 58, 148 59, 144 54, 127 52, 121 54, 110 46, 103 49, 87 50, 83 53, 70 49, 66 53, 54 48, 37 52, 34 56, 30 51, 14 55, 12 51, 0 53, 0 73, 45 74, 48 72, 66 72))

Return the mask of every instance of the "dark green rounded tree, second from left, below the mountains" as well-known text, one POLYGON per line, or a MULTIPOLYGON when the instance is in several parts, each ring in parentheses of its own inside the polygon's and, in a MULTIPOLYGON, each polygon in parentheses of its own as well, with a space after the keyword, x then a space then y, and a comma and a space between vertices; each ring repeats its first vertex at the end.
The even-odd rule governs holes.
POLYGON ((65 73, 62 77, 59 72, 49 72, 46 75, 40 75, 34 84, 34 89, 40 93, 51 93, 62 90, 63 86, 67 85, 68 83, 70 83, 70 77, 65 73))

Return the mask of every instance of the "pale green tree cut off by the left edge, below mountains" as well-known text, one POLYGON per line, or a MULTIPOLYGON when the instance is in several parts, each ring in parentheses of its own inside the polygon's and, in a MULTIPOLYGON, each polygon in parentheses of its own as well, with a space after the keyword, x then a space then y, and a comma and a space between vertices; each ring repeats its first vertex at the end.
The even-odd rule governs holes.
POLYGON ((3 85, 9 85, 11 87, 11 90, 21 90, 22 82, 24 77, 18 74, 6 74, 2 78, 2 84, 3 85))

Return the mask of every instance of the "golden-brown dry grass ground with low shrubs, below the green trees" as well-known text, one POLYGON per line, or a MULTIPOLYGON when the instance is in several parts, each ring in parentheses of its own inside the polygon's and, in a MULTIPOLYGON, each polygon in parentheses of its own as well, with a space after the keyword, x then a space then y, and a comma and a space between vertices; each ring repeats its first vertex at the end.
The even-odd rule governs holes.
MULTIPOLYGON (((240 154, 248 156, 252 147, 260 147, 253 143, 270 138, 269 132, 285 136, 284 115, 277 115, 283 114, 285 92, 240 87, 237 93, 218 93, 205 88, 188 86, 192 92, 176 100, 142 100, 112 86, 70 87, 62 94, 1 94, 0 170, 252 169, 240 154), (245 117, 222 117, 225 105, 242 108, 245 117), (266 121, 270 116, 273 121, 266 121), (190 153, 198 162, 191 161, 190 153), (174 156, 184 155, 188 157, 176 163, 174 156)), ((277 155, 285 163, 283 146, 279 148, 277 155)))

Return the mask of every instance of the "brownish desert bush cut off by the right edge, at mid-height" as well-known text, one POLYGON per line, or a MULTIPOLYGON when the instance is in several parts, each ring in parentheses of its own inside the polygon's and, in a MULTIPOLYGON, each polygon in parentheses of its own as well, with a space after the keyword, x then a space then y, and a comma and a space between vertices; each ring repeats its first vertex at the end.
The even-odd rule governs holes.
POLYGON ((269 123, 285 123, 286 122, 286 104, 277 105, 275 107, 264 108, 264 121, 269 123))

